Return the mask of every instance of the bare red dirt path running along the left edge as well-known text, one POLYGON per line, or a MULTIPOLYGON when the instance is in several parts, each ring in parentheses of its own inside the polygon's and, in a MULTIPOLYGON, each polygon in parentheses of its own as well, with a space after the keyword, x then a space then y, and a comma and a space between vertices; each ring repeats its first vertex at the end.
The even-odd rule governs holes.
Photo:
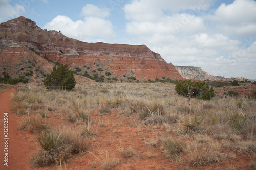
POLYGON ((31 151, 35 150, 32 135, 17 131, 19 117, 11 111, 11 94, 14 88, 0 93, 0 169, 29 169, 31 151), (4 144, 4 113, 8 113, 8 152, 4 144), (8 166, 4 165, 4 156, 8 153, 8 166))

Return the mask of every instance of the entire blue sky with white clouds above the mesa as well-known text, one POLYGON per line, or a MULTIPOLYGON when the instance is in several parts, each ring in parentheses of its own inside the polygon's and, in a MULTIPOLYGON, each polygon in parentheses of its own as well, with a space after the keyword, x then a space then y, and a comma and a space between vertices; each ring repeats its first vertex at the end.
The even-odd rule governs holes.
POLYGON ((81 41, 145 44, 174 65, 256 79, 254 0, 0 0, 0 22, 20 15, 81 41))

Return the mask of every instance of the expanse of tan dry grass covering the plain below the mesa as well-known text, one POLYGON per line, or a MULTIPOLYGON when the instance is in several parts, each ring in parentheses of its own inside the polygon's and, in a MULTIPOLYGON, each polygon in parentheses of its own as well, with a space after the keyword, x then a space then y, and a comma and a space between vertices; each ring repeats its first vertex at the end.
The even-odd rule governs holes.
MULTIPOLYGON (((38 160, 34 159, 35 162, 39 162, 35 163, 38 166, 47 166, 51 163, 63 164, 70 154, 87 152, 88 148, 92 147, 91 143, 94 143, 96 138, 97 140, 100 138, 97 136, 98 131, 112 131, 110 133, 112 136, 122 136, 123 130, 120 131, 119 126, 123 124, 141 127, 137 128, 137 133, 145 144, 146 156, 143 159, 158 158, 158 153, 162 151, 168 158, 186 157, 190 163, 188 168, 200 168, 220 162, 222 148, 249 155, 256 152, 254 142, 256 123, 253 115, 256 109, 255 101, 246 98, 223 98, 219 95, 210 101, 192 98, 189 101, 190 113, 187 98, 172 97, 176 94, 173 84, 99 83, 79 86, 79 89, 75 88, 72 91, 50 91, 40 86, 26 85, 13 93, 13 110, 24 117, 20 129, 40 134, 49 127, 45 124, 47 117, 61 117, 63 121, 68 119, 74 123, 68 124, 77 131, 77 133, 68 133, 63 142, 65 144, 59 147, 59 152, 55 152, 57 157, 63 156, 65 159, 58 158, 57 161, 52 161, 52 151, 49 153, 38 151, 38 160), (112 120, 113 115, 108 114, 112 112, 120 113, 114 117, 115 119, 125 116, 127 119, 125 122, 116 123, 114 119, 112 120), (146 138, 146 133, 154 131, 160 136, 166 133, 169 135, 162 139, 157 135, 146 138), (187 138, 190 144, 184 142, 187 138), (48 161, 40 163, 42 157, 47 158, 48 161)), ((55 126, 53 122, 51 126, 55 126)), ((122 159, 131 158, 135 154, 138 157, 140 155, 132 147, 124 145, 118 147, 122 159)), ((113 153, 103 150, 101 146, 98 148, 97 156, 92 155, 101 163, 101 168, 110 169, 118 164, 113 153)), ((235 156, 233 157, 235 159, 235 156)), ((140 158, 142 159, 142 156, 140 158)), ((231 156, 229 158, 232 159, 231 156)), ((92 167, 97 165, 96 162, 91 164, 92 167)))

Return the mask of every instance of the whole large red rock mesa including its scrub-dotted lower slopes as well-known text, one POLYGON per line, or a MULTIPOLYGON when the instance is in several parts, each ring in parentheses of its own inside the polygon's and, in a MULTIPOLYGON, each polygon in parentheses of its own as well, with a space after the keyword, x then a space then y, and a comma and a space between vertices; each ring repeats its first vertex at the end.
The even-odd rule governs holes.
POLYGON ((26 71, 33 71, 32 79, 41 77, 50 71, 52 62, 58 62, 68 64, 81 75, 106 78, 108 72, 108 76, 119 80, 154 80, 164 76, 184 79, 171 63, 146 45, 81 42, 54 30, 42 30, 25 17, 1 23, 0 46, 0 71, 14 77, 26 71))

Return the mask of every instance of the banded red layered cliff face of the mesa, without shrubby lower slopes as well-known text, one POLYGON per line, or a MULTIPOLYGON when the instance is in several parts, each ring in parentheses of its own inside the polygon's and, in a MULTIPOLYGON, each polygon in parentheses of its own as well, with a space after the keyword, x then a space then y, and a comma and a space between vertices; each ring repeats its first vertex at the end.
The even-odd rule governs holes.
POLYGON ((2 64, 8 57, 12 57, 7 57, 4 51, 32 53, 26 50, 26 47, 30 47, 37 54, 40 53, 37 57, 68 64, 71 68, 101 67, 104 71, 111 71, 113 75, 135 76, 137 80, 154 80, 164 76, 183 79, 172 64, 167 64, 160 54, 152 52, 145 45, 81 42, 56 31, 42 30, 25 17, 1 23, 0 39, 2 64))

